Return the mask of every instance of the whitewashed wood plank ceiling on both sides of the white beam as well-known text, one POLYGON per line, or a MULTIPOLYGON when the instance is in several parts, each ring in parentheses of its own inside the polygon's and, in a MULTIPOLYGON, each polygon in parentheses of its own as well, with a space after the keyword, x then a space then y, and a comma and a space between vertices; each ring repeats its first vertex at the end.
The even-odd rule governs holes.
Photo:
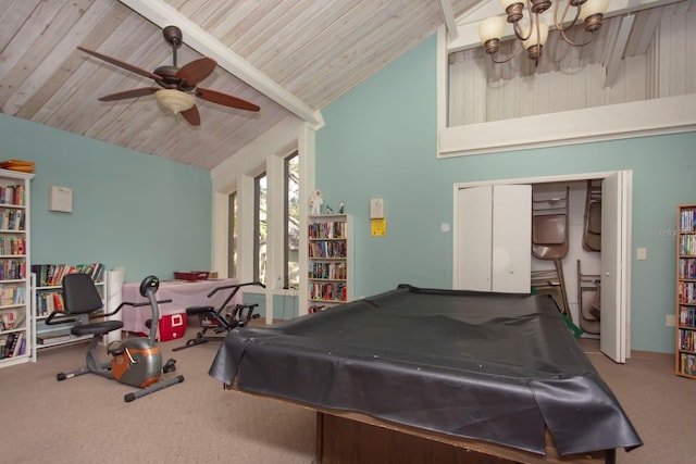
POLYGON ((153 71, 172 64, 172 49, 161 30, 165 24, 158 22, 179 17, 188 26, 176 24, 184 29, 179 66, 208 54, 186 45, 187 38, 198 40, 191 34, 200 29, 208 43, 246 60, 288 99, 321 110, 432 35, 445 22, 440 1, 447 1, 455 15, 476 3, 0 0, 0 106, 20 118, 210 170, 293 115, 291 108, 222 66, 200 85, 251 101, 260 112, 198 100, 201 126, 191 127, 181 115, 166 114, 151 96, 100 102, 98 97, 153 83, 76 47, 153 71), (163 20, 136 12, 148 8, 153 15, 171 14, 163 20))

